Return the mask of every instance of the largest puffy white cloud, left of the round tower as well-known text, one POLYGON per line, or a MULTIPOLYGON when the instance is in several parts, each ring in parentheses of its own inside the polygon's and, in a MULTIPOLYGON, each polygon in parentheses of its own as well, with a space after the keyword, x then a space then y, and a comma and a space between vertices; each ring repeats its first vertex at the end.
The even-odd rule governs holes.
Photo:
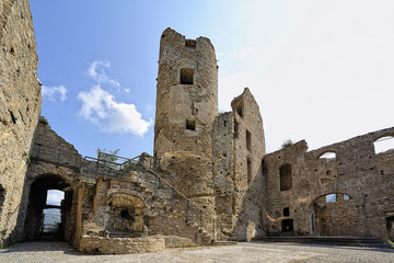
POLYGON ((104 132, 130 133, 142 137, 152 124, 152 119, 142 119, 135 104, 117 102, 100 85, 93 87, 89 92, 80 92, 78 99, 82 101, 79 114, 104 132))

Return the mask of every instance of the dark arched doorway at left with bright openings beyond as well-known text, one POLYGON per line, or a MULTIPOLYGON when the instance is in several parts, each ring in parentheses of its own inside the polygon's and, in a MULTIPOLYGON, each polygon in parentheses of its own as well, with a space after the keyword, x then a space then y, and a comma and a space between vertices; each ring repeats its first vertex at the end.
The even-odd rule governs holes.
POLYGON ((70 185, 58 175, 36 179, 28 196, 25 238, 70 240, 72 195, 70 185))

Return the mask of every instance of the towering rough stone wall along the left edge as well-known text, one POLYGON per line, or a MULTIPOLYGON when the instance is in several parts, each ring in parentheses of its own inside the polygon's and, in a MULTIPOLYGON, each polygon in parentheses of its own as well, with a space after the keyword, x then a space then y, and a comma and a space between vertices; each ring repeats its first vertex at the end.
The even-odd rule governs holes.
POLYGON ((40 111, 28 1, 0 1, 0 243, 15 229, 26 161, 40 111))

